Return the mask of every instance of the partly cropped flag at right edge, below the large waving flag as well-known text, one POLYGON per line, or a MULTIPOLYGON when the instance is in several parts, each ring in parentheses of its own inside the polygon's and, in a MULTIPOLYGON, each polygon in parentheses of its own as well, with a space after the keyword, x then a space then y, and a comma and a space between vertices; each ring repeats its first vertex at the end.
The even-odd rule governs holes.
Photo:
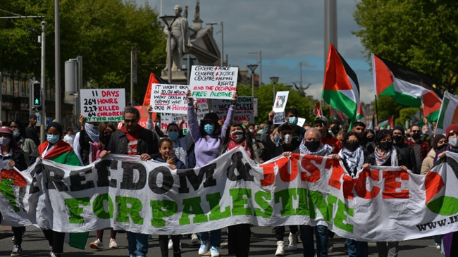
POLYGON ((450 124, 458 124, 458 98, 445 92, 435 133, 445 134, 445 129, 450 124))

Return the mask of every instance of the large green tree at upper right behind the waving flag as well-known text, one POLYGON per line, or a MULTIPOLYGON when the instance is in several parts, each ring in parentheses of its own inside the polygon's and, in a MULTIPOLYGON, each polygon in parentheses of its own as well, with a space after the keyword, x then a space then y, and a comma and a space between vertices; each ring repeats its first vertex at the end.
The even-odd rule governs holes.
POLYGON ((457 92, 458 1, 361 0, 354 19, 371 53, 433 77, 443 92, 457 92))

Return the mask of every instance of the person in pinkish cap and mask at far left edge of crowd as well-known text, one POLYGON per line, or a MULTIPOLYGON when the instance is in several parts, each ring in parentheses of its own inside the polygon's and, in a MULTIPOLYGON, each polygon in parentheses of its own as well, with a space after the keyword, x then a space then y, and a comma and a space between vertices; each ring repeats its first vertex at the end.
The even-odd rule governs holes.
MULTIPOLYGON (((8 165, 16 167, 18 170, 25 170, 27 168, 24 152, 16 143, 13 137, 13 130, 6 126, 0 127, 0 161, 7 162, 8 165)), ((13 227, 12 230, 14 234, 14 245, 11 256, 20 256, 22 252, 20 245, 23 242, 25 227, 13 227)))

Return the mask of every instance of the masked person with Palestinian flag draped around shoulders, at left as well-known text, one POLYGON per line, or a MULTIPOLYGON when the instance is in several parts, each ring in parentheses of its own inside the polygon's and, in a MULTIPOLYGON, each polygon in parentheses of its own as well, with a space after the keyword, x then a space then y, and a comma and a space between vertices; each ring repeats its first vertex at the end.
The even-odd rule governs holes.
MULTIPOLYGON (((55 161, 73 166, 80 166, 80 160, 73 151, 72 146, 63 142, 61 123, 52 122, 46 128, 47 141, 38 146, 39 158, 55 161)), ((54 230, 43 230, 44 236, 48 239, 51 252, 49 256, 61 256, 63 252, 63 241, 65 233, 54 230)), ((87 232, 82 233, 87 237, 87 232)))

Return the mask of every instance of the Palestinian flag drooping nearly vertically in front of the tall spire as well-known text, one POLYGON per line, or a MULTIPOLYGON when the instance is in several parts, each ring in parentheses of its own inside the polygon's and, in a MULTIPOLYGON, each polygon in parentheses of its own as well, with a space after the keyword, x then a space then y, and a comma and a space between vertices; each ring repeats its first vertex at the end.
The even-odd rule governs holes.
POLYGON ((331 107, 345 113, 350 120, 350 127, 353 125, 359 104, 358 78, 333 44, 329 46, 321 97, 331 107))

